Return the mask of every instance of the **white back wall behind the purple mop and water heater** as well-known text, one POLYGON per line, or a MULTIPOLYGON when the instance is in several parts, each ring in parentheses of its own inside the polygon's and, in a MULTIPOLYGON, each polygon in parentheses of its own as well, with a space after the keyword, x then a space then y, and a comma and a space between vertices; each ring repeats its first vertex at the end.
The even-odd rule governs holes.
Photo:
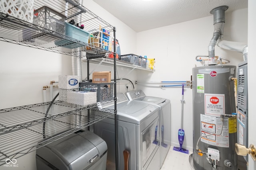
MULTIPOLYGON (((247 9, 226 12, 224 39, 247 43, 247 9)), ((171 18, 170 18, 171 19, 171 18)), ((208 44, 212 38, 213 16, 188 22, 143 31, 137 34, 137 54, 155 58, 156 70, 151 74, 140 74, 139 81, 183 81, 190 80, 192 68, 201 66, 196 55, 208 55, 208 44)), ((240 53, 215 47, 215 55, 225 57, 238 65, 243 61, 240 53)), ((181 87, 156 88, 139 85, 148 96, 159 96, 171 101, 171 141, 178 145, 178 129, 181 121, 181 87)), ((184 88, 184 131, 183 147, 192 150, 192 89, 184 88)))

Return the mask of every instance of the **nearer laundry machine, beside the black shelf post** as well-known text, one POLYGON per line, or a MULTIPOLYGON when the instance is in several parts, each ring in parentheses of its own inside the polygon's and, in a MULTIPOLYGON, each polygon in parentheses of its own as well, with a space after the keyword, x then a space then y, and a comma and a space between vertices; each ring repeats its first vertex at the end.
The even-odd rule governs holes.
MULTIPOLYGON (((103 106, 114 109, 114 105, 103 106)), ((159 108, 148 103, 129 101, 117 94, 118 169, 124 169, 123 151, 130 153, 129 170, 160 170, 159 108)), ((108 146, 107 170, 115 170, 114 115, 94 123, 94 133, 108 146)))

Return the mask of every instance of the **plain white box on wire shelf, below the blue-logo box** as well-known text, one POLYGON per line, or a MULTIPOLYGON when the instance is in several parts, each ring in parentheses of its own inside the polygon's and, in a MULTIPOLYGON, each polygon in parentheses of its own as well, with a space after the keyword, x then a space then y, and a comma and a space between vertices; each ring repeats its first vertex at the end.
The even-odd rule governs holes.
POLYGON ((97 102, 97 92, 67 92, 67 102, 87 106, 97 102))

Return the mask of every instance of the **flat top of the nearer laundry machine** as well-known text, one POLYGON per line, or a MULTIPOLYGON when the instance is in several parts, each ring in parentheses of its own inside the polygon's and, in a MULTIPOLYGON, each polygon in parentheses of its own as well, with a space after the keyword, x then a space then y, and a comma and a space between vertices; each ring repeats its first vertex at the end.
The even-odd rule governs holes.
MULTIPOLYGON (((114 109, 114 106, 107 107, 114 109)), ((149 103, 127 101, 117 104, 117 117, 120 121, 140 124, 152 114, 158 114, 159 107, 149 103)))

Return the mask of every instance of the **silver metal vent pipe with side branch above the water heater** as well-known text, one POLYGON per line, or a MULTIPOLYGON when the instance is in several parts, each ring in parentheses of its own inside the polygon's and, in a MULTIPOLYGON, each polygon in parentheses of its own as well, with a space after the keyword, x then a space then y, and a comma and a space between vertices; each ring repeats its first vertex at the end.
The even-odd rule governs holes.
POLYGON ((214 46, 218 45, 223 49, 230 51, 236 51, 243 54, 244 61, 247 60, 248 55, 248 46, 245 43, 226 41, 223 40, 224 32, 224 23, 225 23, 225 11, 228 9, 228 6, 219 6, 210 11, 210 14, 213 14, 214 18, 214 33, 213 37, 208 46, 208 56, 209 56, 209 65, 216 65, 214 46))

